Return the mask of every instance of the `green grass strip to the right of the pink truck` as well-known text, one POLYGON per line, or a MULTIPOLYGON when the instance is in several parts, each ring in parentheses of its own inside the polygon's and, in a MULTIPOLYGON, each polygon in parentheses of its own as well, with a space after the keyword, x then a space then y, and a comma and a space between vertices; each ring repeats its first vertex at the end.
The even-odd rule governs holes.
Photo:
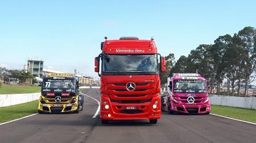
POLYGON ((256 123, 256 110, 218 105, 211 105, 211 107, 212 111, 210 113, 212 114, 227 116, 229 118, 240 119, 256 123))

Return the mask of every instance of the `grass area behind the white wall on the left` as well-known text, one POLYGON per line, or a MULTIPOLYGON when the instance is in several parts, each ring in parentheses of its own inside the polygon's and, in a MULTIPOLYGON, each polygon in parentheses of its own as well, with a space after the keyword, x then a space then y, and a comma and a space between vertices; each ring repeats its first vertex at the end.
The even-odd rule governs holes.
POLYGON ((0 86, 0 94, 36 93, 36 92, 40 92, 40 90, 41 90, 41 86, 27 86, 27 85, 0 86))

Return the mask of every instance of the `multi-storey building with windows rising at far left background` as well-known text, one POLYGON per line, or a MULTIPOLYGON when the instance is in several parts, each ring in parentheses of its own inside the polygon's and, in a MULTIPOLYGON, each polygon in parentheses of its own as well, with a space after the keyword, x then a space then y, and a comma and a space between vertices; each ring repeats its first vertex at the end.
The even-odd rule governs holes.
POLYGON ((27 60, 27 71, 35 77, 43 77, 43 60, 27 60))

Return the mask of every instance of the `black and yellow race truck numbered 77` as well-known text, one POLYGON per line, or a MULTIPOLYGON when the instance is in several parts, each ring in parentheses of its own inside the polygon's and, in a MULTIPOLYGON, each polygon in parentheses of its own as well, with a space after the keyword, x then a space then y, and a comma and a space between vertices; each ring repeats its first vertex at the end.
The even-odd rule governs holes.
POLYGON ((38 112, 75 112, 84 107, 79 80, 73 73, 49 73, 44 77, 38 112))

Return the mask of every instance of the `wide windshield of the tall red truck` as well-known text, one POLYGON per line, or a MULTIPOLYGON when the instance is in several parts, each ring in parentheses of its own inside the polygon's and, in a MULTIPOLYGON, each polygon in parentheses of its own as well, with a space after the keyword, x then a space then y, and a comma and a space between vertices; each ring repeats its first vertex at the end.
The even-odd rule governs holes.
POLYGON ((157 72, 157 55, 106 55, 103 72, 157 72))

